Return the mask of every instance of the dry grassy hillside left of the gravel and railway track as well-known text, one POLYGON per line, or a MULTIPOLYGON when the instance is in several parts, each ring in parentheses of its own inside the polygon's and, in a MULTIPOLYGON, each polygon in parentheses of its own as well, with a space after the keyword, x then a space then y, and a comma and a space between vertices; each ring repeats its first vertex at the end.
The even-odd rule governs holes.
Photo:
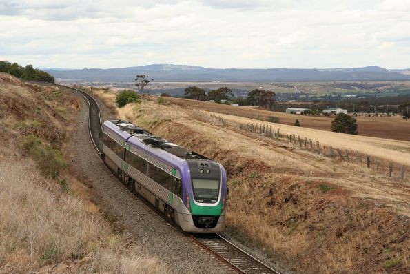
POLYGON ((79 102, 0 73, 0 273, 167 273, 65 169, 79 102))

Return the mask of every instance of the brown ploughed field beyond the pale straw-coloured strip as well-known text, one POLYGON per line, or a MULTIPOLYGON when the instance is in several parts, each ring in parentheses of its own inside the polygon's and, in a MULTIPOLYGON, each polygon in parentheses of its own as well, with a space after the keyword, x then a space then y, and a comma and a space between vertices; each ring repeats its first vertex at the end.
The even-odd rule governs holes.
MULTIPOLYGON (((330 124, 333 119, 333 117, 290 115, 252 107, 234 107, 189 99, 167 98, 167 100, 184 108, 208 110, 260 121, 267 121, 268 117, 275 116, 280 119, 280 124, 286 125, 293 125, 295 120, 299 119, 300 126, 318 130, 330 130, 330 124)), ((410 122, 404 121, 402 117, 356 117, 356 119, 359 126, 359 135, 410 141, 410 122)))

